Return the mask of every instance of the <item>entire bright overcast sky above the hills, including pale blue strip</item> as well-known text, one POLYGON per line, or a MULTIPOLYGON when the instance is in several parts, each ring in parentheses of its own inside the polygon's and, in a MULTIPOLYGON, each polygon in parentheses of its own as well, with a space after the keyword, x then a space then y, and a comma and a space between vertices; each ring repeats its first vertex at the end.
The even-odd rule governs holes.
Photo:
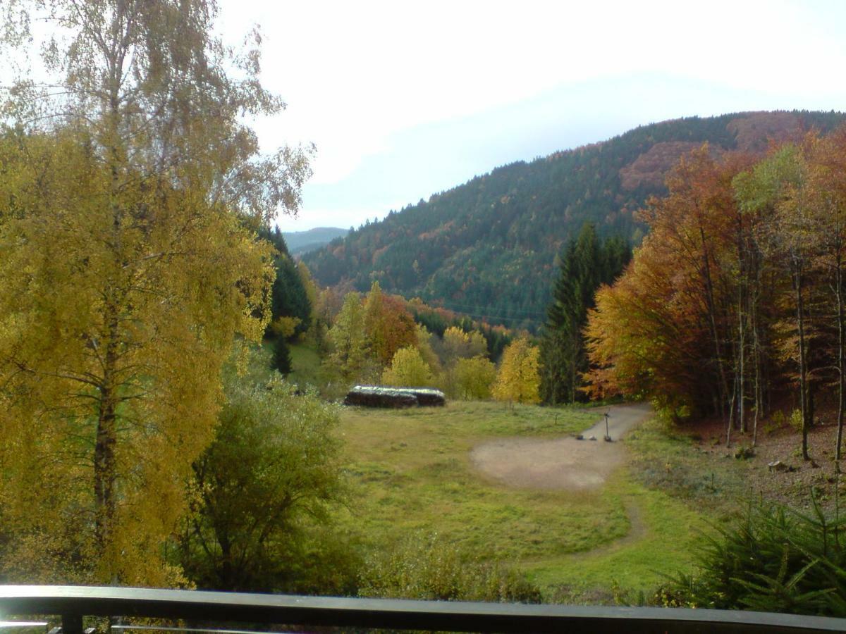
POLYGON ((255 123, 263 147, 316 145, 285 231, 357 227, 642 123, 846 110, 839 0, 220 3, 227 39, 260 25, 288 103, 255 123))

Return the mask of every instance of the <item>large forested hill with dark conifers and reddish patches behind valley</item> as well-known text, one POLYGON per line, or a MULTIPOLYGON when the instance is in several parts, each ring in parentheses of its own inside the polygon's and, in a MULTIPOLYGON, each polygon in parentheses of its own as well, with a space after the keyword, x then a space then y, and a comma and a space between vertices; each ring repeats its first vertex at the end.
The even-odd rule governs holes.
POLYGON ((498 167, 304 260, 323 285, 419 296, 492 323, 536 329, 545 319, 555 259, 585 221, 600 236, 640 241, 633 214, 678 157, 704 142, 713 152, 763 151, 842 123, 835 112, 746 112, 653 123, 618 137, 498 167))

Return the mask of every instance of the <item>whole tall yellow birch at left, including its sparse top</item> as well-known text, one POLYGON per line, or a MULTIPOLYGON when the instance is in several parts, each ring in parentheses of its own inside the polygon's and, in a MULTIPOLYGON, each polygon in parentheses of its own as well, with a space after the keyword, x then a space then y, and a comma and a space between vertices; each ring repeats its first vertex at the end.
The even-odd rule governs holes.
POLYGON ((41 50, 51 74, 2 96, 4 520, 19 552, 55 544, 54 579, 74 560, 87 582, 176 580, 162 541, 211 440, 223 360, 266 325, 253 230, 299 205, 308 152, 258 154, 244 115, 283 102, 261 87, 258 37, 233 54, 216 14, 201 0, 3 13, 4 59, 41 50), (32 46, 32 19, 63 36, 32 46))

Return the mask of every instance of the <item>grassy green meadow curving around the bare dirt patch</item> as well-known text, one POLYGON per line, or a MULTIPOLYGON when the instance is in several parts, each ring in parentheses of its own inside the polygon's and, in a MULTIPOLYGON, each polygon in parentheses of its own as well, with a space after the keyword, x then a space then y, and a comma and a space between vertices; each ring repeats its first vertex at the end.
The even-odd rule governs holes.
POLYGON ((486 440, 567 435, 590 427, 586 408, 450 402, 401 411, 344 408, 340 434, 352 495, 343 522, 368 549, 437 535, 465 552, 506 560, 547 599, 595 590, 648 591, 687 569, 703 517, 624 467, 592 492, 508 488, 475 473, 486 440))

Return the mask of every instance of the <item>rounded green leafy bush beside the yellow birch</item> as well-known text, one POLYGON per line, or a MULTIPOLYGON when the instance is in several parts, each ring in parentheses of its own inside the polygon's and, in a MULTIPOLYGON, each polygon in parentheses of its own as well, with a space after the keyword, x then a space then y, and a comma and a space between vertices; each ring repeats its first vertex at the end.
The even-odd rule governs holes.
POLYGON ((179 563, 198 588, 349 593, 357 564, 331 530, 346 500, 338 410, 246 370, 226 374, 217 435, 193 465, 179 563))

